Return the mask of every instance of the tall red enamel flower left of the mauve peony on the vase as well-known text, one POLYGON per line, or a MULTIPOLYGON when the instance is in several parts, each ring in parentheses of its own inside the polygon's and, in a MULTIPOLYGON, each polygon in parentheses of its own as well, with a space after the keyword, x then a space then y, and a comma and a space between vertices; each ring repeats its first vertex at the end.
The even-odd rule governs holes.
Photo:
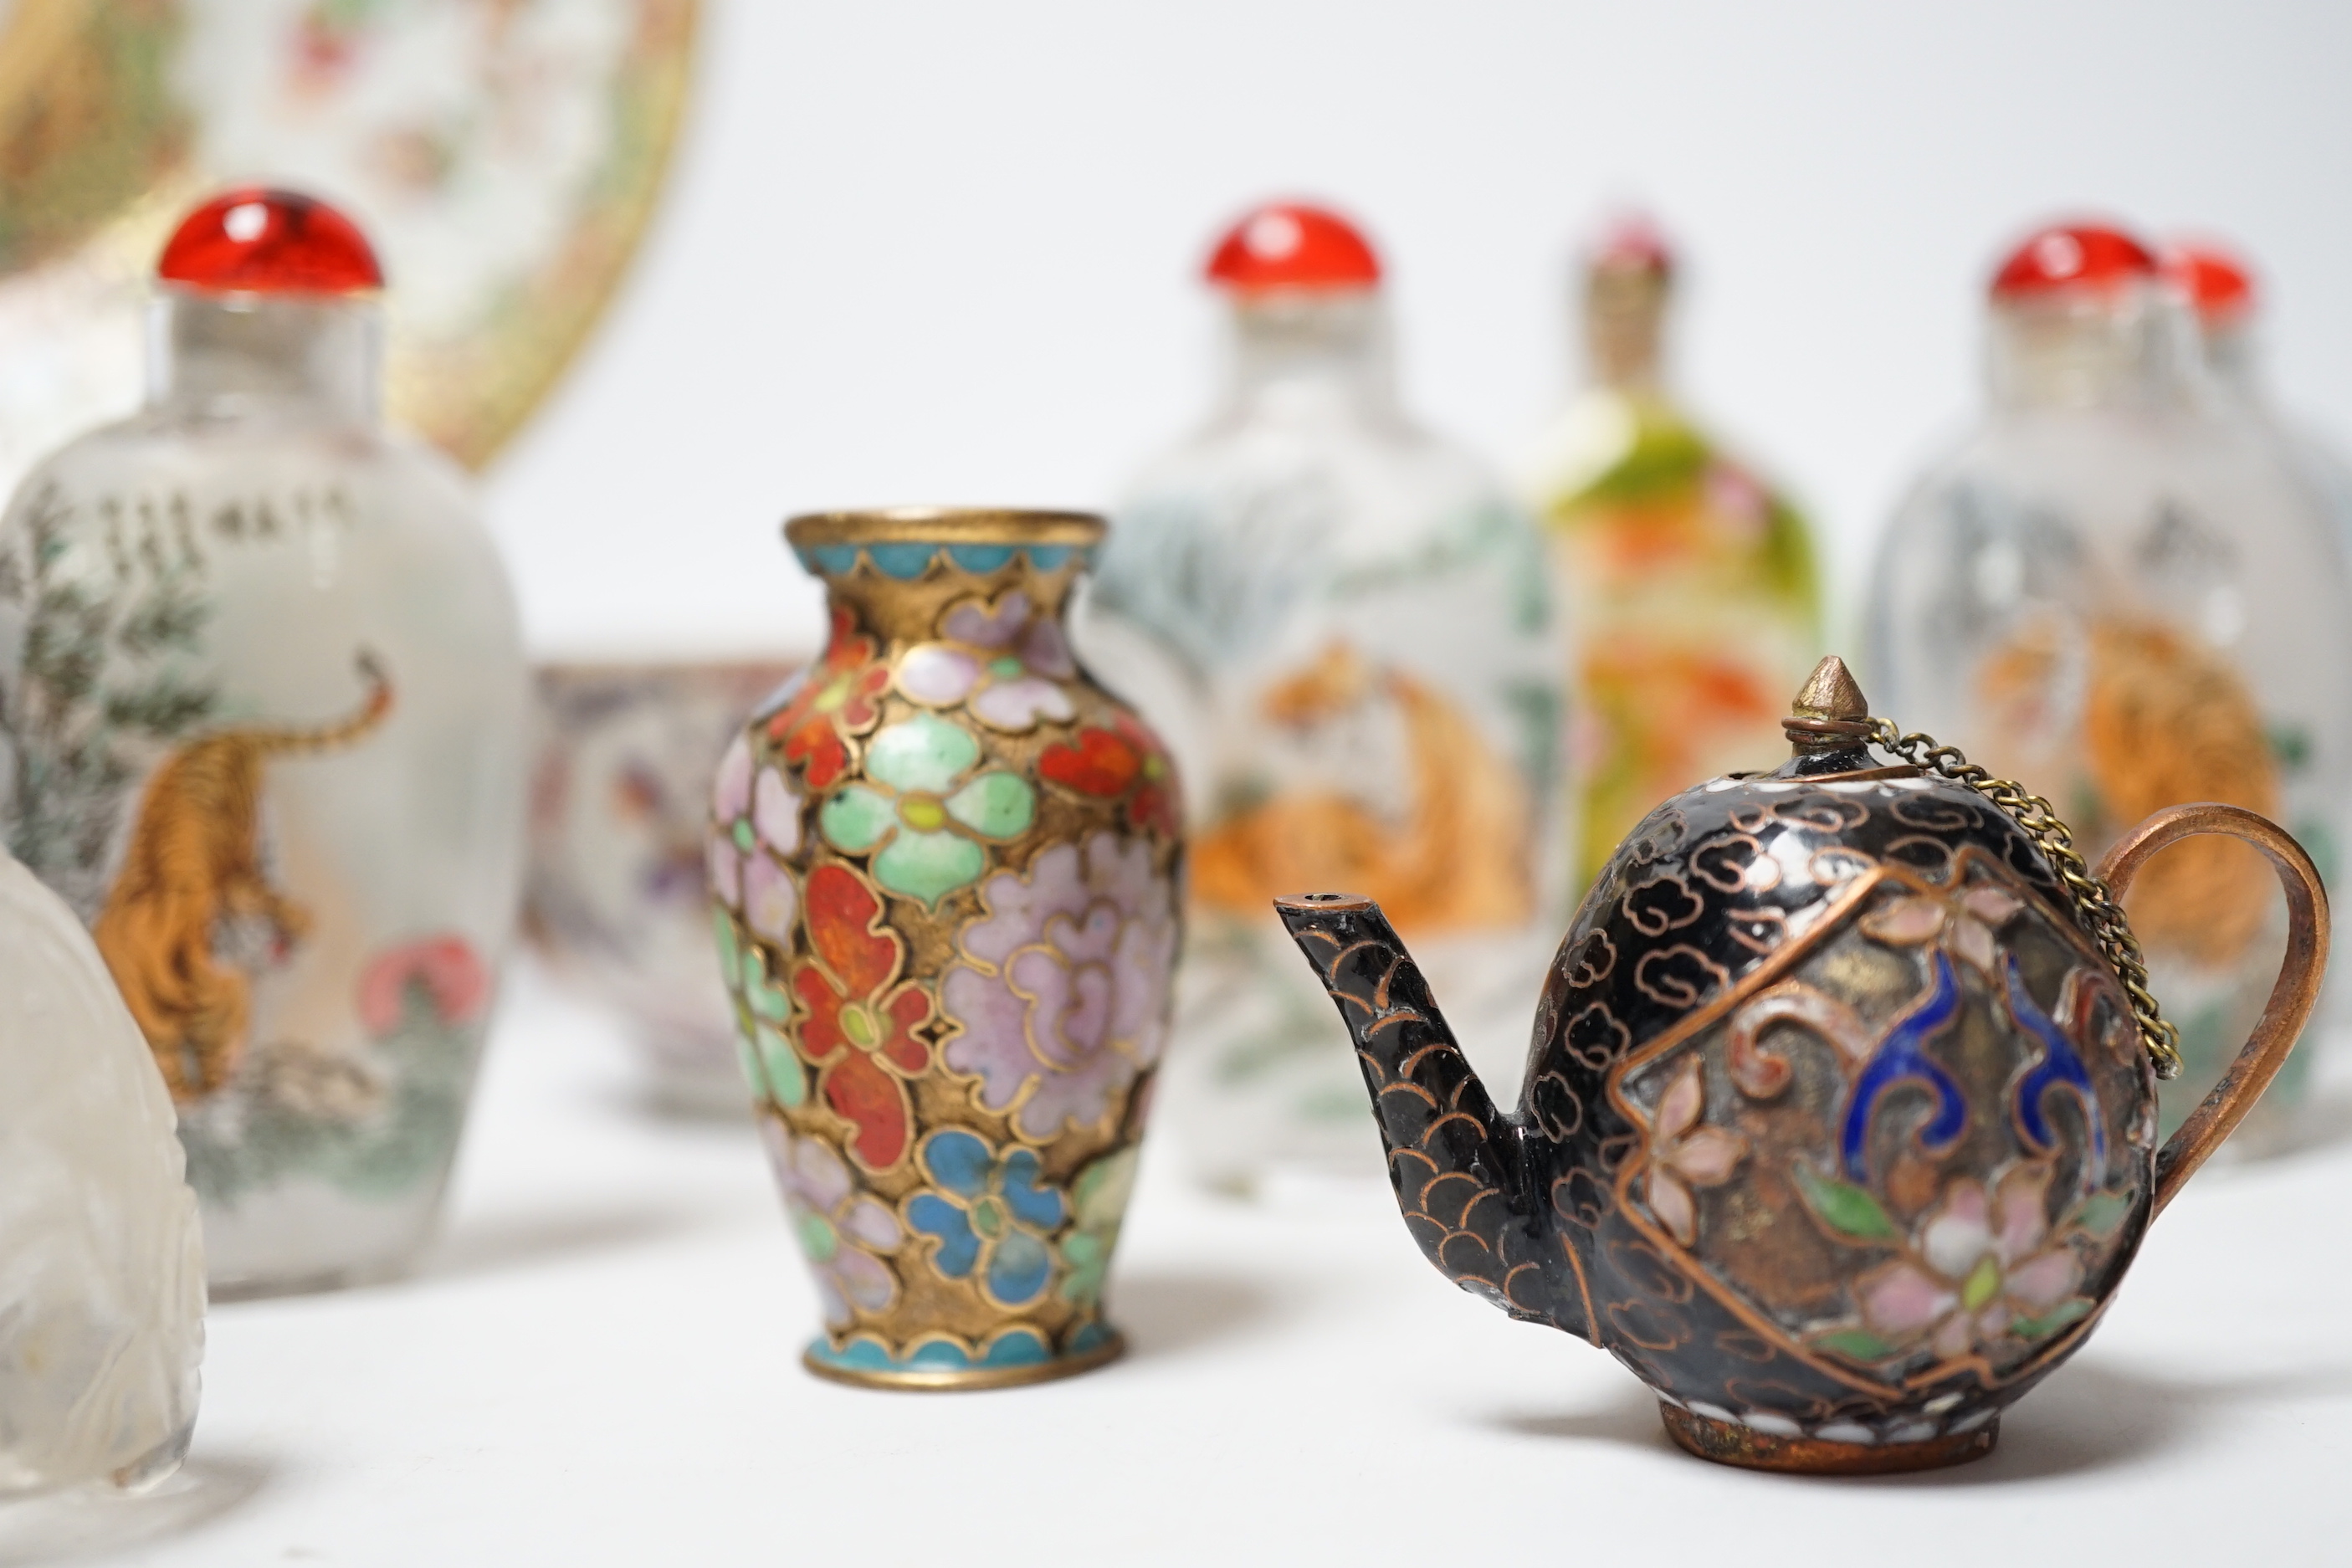
POLYGON ((800 1053, 816 1065, 816 1091, 856 1128, 849 1157, 889 1171, 915 1138, 906 1079, 931 1063, 915 1034, 931 1018, 931 997, 898 980, 906 952, 882 924, 882 900, 844 865, 818 865, 807 884, 814 959, 793 969, 800 1053))

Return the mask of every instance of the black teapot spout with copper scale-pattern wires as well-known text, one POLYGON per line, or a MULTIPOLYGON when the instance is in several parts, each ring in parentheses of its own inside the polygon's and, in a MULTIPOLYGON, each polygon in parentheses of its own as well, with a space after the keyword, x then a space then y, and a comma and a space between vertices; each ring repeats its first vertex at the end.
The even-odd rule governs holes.
POLYGON ((1562 1293, 1550 1206, 1531 1192, 1522 1128, 1496 1112, 1381 905, 1352 893, 1277 898, 1348 1034, 1388 1145, 1404 1222, 1437 1272, 1517 1319, 1585 1335, 1562 1293))

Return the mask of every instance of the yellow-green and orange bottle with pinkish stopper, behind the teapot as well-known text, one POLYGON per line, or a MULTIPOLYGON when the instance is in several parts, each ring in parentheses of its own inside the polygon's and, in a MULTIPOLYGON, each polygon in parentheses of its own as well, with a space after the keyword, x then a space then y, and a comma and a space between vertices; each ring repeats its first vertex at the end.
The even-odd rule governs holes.
POLYGON ((1583 268, 1590 383, 1529 461, 1571 635, 1573 886, 1668 795, 1780 750, 1780 693, 1820 658, 1797 508, 1722 451, 1665 383, 1675 259, 1618 223, 1583 268))

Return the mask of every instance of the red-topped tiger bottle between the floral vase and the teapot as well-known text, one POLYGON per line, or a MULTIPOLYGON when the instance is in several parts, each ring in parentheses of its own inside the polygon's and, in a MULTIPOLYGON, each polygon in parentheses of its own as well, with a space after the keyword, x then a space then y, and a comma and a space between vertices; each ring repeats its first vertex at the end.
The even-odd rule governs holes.
POLYGON ((1319 207, 1261 207, 1207 280, 1223 402, 1127 491, 1075 632, 1185 778, 1162 1093, 1195 1173, 1247 1192, 1374 1175, 1275 893, 1378 893, 1465 1032, 1517 1051, 1564 905, 1562 654, 1534 527, 1397 404, 1364 235, 1319 207))

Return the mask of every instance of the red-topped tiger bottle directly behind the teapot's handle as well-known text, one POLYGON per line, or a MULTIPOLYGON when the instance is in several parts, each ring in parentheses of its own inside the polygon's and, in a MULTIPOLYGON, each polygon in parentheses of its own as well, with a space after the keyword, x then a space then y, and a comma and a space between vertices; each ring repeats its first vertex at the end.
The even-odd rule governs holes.
MULTIPOLYGON (((2310 484, 2216 395, 2152 254, 2100 226, 2030 237, 1990 287, 1987 371, 1985 416, 1879 545, 1879 701, 2058 802, 2091 853, 2211 799, 2286 823, 2333 877, 2352 576, 2310 484)), ((2178 1126, 2253 1027, 2286 919, 2227 839, 2164 856, 2138 898, 2187 1058, 2164 1088, 2178 1126)), ((2291 1131, 2307 1067, 2296 1053, 2237 1150, 2291 1131)))

